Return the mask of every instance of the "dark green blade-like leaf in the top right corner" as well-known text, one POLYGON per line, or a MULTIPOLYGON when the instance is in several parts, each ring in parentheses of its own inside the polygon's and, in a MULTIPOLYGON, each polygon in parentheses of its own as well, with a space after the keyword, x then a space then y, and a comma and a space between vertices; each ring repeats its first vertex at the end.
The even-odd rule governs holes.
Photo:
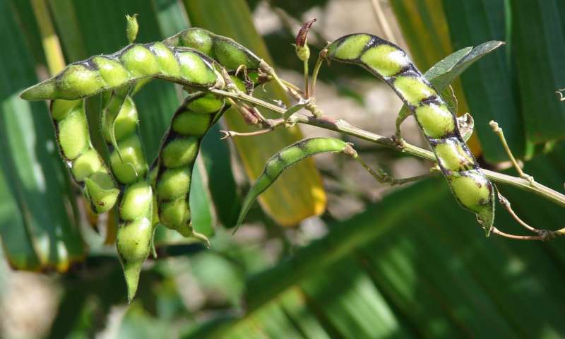
MULTIPOLYGON (((511 8, 506 15, 512 18, 510 57, 516 63, 513 71, 518 80, 514 88, 520 94, 526 136, 533 143, 563 138, 565 105, 554 92, 565 87, 565 3, 508 2, 511 8)), ((504 124, 501 126, 504 128, 504 124)))

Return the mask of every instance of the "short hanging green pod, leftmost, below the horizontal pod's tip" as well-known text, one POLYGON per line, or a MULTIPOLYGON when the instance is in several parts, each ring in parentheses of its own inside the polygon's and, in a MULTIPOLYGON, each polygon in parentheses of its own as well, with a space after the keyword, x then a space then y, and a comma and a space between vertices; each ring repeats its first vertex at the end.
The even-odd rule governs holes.
POLYGON ((98 152, 90 133, 82 100, 53 100, 49 107, 59 153, 74 182, 95 213, 107 212, 116 203, 119 189, 98 152))

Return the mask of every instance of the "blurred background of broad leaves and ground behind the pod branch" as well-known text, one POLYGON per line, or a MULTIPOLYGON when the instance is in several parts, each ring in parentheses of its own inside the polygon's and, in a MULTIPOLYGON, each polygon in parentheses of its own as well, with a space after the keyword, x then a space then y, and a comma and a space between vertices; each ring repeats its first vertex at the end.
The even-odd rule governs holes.
MULTIPOLYGON (((47 106, 17 95, 53 73, 57 58, 70 63, 123 47, 124 16, 133 13, 139 14, 137 42, 200 26, 234 37, 263 58, 270 54, 280 75, 298 85, 302 66, 290 44, 300 24, 314 17, 314 57, 327 40, 370 32, 407 49, 422 71, 460 48, 506 41, 454 83, 458 113, 475 118, 470 145, 484 167, 516 174, 506 169, 506 155, 487 124, 495 119, 514 154, 525 160, 525 172, 564 191, 565 147, 559 140, 565 136, 565 102, 554 93, 565 87, 564 1, 0 0, 3 338, 565 333, 564 239, 485 238, 441 178, 391 189, 345 157, 316 156, 315 164, 299 167, 302 172, 283 174, 232 235, 249 177, 301 138, 296 130, 229 142, 218 140, 220 127, 208 133, 191 208, 197 230, 211 237, 211 249, 160 227, 159 258, 148 261, 138 295, 127 304, 112 215, 95 218, 85 211, 54 147, 47 106)), ((369 73, 336 63, 323 66, 316 97, 329 116, 385 136, 393 133, 401 107, 369 73)), ((181 99, 178 88, 158 81, 136 96, 149 159, 181 99)), ((96 109, 88 114, 95 134, 96 109)), ((222 119, 221 128, 227 127, 244 129, 236 114, 222 119)), ((301 129, 304 136, 337 136, 301 129)), ((405 122, 403 135, 425 147, 414 119, 405 122)), ((355 143, 371 166, 396 177, 429 170, 428 162, 340 137, 355 143)), ((526 222, 565 226, 563 208, 511 187, 499 189, 526 222)), ((523 232, 500 207, 496 227, 523 232)))

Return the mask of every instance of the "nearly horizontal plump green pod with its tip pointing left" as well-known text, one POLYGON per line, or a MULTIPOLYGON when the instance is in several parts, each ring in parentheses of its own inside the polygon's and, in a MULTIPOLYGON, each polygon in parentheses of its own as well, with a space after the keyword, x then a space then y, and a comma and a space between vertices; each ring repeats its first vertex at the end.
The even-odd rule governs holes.
POLYGON ((114 54, 90 57, 66 66, 53 78, 21 93, 24 100, 90 97, 145 78, 162 78, 198 89, 223 87, 213 60, 195 49, 161 42, 130 44, 114 54))

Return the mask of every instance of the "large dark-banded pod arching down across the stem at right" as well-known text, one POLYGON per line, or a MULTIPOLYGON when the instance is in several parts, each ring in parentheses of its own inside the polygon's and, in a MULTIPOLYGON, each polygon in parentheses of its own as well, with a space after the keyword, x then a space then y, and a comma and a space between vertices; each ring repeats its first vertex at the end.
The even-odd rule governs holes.
MULTIPOLYGON (((395 90, 415 115, 453 195, 489 232, 494 222, 493 185, 465 144, 455 114, 406 53, 374 35, 353 34, 329 44, 326 58, 362 66, 395 90)), ((472 133, 472 121, 466 124, 466 138, 469 126, 472 133)))

